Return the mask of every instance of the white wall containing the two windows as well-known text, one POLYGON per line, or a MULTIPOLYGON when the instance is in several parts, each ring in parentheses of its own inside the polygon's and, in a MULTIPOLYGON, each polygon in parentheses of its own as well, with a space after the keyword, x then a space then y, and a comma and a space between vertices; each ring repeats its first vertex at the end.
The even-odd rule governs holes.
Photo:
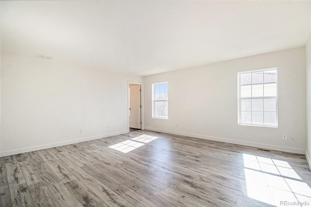
POLYGON ((147 76, 144 82, 145 129, 305 153, 305 47, 147 76), (278 68, 278 127, 238 125, 237 73, 272 67, 278 68), (168 120, 152 118, 151 84, 164 81, 169 82, 168 120))

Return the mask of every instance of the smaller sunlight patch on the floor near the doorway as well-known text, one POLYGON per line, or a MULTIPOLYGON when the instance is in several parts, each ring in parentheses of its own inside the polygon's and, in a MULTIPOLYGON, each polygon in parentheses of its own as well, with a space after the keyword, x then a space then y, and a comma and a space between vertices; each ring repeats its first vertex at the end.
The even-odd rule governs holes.
POLYGON ((121 151, 123 153, 128 153, 134 149, 137 149, 140 146, 145 145, 145 143, 149 143, 155 139, 157 139, 157 137, 143 134, 131 140, 126 140, 124 142, 111 145, 109 146, 109 148, 121 151))

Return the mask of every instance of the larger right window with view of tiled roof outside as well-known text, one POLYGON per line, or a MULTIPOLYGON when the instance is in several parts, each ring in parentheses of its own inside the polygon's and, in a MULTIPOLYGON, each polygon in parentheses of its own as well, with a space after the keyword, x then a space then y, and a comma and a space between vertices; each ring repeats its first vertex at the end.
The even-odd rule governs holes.
POLYGON ((277 127, 277 68, 238 73, 238 124, 277 127))

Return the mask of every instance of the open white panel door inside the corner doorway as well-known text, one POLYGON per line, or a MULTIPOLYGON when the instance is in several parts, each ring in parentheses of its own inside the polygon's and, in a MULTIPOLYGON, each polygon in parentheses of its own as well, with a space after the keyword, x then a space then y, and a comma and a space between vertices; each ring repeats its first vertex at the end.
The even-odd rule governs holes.
POLYGON ((130 86, 130 127, 140 127, 140 85, 130 86))

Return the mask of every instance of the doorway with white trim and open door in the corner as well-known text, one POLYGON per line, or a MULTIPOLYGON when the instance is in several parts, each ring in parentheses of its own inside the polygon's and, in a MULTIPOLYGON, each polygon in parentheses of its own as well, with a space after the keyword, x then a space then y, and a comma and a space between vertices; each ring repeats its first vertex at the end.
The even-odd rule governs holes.
POLYGON ((129 132, 143 129, 143 83, 128 82, 129 132))

